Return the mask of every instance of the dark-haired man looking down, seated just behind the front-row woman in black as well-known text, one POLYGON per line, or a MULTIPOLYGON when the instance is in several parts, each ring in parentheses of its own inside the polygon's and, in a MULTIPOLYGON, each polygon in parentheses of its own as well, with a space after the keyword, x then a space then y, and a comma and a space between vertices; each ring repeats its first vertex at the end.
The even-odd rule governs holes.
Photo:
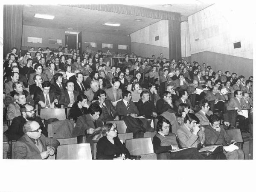
POLYGON ((98 104, 92 103, 88 108, 88 112, 89 114, 78 117, 72 132, 73 137, 91 135, 103 126, 102 120, 99 118, 102 109, 98 104))

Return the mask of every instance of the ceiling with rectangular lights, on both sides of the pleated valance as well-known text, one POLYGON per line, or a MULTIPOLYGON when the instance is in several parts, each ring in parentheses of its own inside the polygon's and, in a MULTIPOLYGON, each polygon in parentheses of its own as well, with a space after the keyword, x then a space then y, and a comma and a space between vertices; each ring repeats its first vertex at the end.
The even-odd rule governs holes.
MULTIPOLYGON (((192 1, 193 2, 193 1, 192 1)), ((171 7, 162 5, 137 5, 149 9, 178 12, 182 16, 188 16, 205 7, 207 3, 195 4, 173 4, 171 7)), ((98 32, 106 34, 128 35, 146 26, 159 21, 148 17, 137 17, 127 14, 117 14, 91 9, 82 9, 61 5, 24 5, 23 6, 23 25, 38 26, 47 28, 65 29, 70 32, 98 32), (54 15, 53 20, 35 18, 35 13, 54 15), (142 21, 134 21, 142 19, 142 21), (120 23, 119 27, 104 26, 103 24, 120 23), (119 30, 115 32, 115 30, 119 30)))

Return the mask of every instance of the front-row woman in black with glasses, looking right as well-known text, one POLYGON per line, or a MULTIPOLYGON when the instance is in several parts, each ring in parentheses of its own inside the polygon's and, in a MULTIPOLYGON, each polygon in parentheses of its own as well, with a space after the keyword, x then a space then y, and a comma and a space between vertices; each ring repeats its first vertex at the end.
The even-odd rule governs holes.
POLYGON ((125 160, 130 157, 128 149, 117 137, 117 131, 112 123, 102 126, 103 137, 97 143, 96 159, 125 160))

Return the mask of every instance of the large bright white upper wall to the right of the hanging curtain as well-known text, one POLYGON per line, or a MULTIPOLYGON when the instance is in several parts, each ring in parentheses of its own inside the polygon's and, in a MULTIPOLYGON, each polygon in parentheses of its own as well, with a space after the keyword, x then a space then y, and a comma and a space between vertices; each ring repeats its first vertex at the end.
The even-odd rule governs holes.
MULTIPOLYGON (((252 12, 247 9, 246 6, 232 3, 214 4, 189 16, 191 54, 210 51, 253 59, 255 21, 252 12), (199 40, 195 41, 195 39, 199 40), (239 41, 241 48, 234 49, 233 43, 239 41)), ((184 28, 182 27, 181 25, 181 29, 184 28)), ((185 34, 181 39, 184 39, 184 36, 185 34)))

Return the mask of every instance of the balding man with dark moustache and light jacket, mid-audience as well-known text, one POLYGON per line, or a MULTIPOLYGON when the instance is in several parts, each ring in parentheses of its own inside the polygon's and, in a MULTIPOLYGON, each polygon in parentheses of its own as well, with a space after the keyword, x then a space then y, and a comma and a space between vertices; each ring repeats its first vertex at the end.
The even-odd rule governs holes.
POLYGON ((113 106, 116 106, 116 101, 122 99, 122 90, 119 89, 119 80, 113 80, 111 88, 106 89, 107 99, 111 101, 113 106))

